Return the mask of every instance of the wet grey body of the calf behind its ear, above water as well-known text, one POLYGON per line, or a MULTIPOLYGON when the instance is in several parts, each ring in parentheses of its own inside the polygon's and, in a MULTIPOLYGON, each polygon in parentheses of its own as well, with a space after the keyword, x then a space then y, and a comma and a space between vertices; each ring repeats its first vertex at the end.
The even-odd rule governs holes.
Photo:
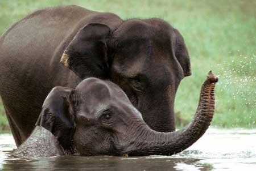
POLYGON ((33 158, 60 156, 64 154, 65 152, 55 136, 47 129, 44 129, 44 127, 36 126, 28 139, 11 156, 33 158))

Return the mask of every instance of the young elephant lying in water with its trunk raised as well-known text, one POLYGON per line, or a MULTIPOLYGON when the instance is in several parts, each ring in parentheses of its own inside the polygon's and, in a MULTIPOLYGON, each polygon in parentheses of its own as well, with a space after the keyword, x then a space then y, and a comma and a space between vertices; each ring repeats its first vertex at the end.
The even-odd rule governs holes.
POLYGON ((217 80, 209 72, 193 121, 175 132, 150 129, 112 82, 88 78, 75 89, 55 87, 44 101, 35 130, 13 155, 173 155, 195 143, 209 127, 217 80))

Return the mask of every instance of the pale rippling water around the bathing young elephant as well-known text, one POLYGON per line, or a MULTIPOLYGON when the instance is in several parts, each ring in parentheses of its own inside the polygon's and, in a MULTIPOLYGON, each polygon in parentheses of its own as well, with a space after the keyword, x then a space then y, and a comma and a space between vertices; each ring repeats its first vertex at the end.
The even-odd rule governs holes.
POLYGON ((26 160, 8 157, 14 148, 12 136, 0 134, 0 169, 256 170, 256 130, 209 129, 193 146, 174 156, 59 156, 26 160))

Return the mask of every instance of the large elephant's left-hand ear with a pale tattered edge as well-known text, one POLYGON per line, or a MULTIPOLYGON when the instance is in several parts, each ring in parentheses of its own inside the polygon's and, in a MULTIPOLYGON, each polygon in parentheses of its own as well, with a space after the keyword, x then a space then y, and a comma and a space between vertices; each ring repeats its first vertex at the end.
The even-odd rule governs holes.
POLYGON ((85 25, 65 49, 60 63, 81 79, 85 76, 106 78, 108 76, 106 41, 110 33, 110 28, 104 24, 85 25))

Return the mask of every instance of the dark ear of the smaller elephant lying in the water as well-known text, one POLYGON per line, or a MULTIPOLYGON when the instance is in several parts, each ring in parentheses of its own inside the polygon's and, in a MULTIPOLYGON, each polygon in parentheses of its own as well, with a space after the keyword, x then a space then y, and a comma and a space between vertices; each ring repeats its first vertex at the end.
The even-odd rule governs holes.
POLYGON ((64 149, 71 146, 73 132, 75 131, 75 121, 73 115, 69 113, 69 94, 71 88, 55 87, 44 100, 42 111, 36 122, 37 126, 42 126, 59 140, 64 149))

